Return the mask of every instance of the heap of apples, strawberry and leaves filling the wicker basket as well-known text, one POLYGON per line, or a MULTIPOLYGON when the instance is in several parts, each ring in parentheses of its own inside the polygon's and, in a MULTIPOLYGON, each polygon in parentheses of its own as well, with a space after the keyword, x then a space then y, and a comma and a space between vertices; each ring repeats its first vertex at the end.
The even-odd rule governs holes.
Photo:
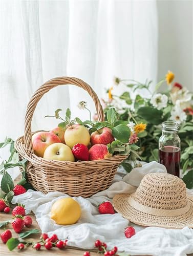
POLYGON ((46 116, 62 120, 58 127, 32 136, 33 150, 38 157, 74 162, 101 160, 130 152, 130 128, 125 121, 118 121, 114 108, 108 110, 105 121, 95 123, 92 120, 81 121, 78 117, 72 120, 69 109, 63 119, 60 111, 56 110, 54 116, 46 116))

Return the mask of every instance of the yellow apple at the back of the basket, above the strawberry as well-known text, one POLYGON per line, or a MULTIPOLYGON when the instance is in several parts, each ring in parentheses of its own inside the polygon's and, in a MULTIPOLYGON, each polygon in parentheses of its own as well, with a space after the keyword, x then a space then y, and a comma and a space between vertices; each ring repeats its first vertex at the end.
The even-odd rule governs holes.
POLYGON ((90 143, 89 131, 83 125, 73 124, 65 132, 65 142, 70 148, 77 143, 88 146, 90 143))

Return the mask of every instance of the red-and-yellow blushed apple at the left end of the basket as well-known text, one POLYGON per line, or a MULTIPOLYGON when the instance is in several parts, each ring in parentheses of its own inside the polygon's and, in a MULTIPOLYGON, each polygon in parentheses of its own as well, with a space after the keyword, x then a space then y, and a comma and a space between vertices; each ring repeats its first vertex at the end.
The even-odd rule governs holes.
POLYGON ((38 132, 37 134, 34 134, 33 138, 32 138, 32 145, 33 145, 34 153, 38 157, 43 157, 46 148, 49 145, 51 145, 53 143, 58 143, 58 142, 61 142, 61 141, 58 138, 58 136, 55 135, 54 133, 38 132))

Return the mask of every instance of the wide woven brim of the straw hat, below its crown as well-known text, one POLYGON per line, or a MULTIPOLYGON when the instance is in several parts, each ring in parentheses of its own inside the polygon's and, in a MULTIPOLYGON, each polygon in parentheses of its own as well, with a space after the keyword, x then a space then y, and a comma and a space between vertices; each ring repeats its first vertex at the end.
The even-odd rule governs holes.
POLYGON ((133 208, 128 203, 128 198, 132 194, 119 194, 113 198, 114 209, 119 212, 123 218, 147 227, 164 227, 182 229, 184 227, 193 228, 193 197, 187 196, 190 208, 186 214, 180 216, 155 216, 153 214, 146 214, 140 210, 133 208))

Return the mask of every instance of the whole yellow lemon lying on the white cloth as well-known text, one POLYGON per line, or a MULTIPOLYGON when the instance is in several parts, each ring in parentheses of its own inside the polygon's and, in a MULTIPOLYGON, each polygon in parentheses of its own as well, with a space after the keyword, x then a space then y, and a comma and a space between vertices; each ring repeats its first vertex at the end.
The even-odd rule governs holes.
POLYGON ((59 225, 71 225, 78 221, 81 215, 80 205, 72 198, 57 200, 51 209, 51 219, 59 225))

